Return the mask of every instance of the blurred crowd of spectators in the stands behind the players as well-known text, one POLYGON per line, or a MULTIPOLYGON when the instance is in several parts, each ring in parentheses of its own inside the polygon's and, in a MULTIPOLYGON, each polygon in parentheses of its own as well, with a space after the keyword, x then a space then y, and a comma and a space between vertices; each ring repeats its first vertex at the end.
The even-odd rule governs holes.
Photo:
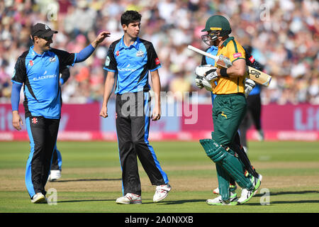
MULTIPOLYGON (((319 3, 315 0, 6 0, 0 1, 0 103, 10 103, 11 77, 19 55, 33 45, 30 26, 45 23, 59 31, 52 48, 79 52, 99 31, 110 31, 88 60, 70 67, 62 87, 64 103, 90 103, 103 98, 103 64, 109 45, 123 35, 120 17, 125 10, 142 14, 140 38, 150 40, 162 68, 162 91, 198 92, 194 69, 201 56, 187 45, 206 49, 201 29, 213 14, 230 19, 231 35, 251 45, 252 55, 273 79, 262 92, 262 103, 319 104, 319 3)), ((21 99, 23 100, 23 99, 21 99)))

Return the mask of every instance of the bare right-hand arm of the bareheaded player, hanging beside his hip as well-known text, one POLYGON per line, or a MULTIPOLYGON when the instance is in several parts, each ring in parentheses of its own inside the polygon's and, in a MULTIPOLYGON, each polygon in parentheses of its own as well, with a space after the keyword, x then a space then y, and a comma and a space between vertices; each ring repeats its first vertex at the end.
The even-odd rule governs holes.
POLYGON ((152 111, 152 120, 158 121, 161 118, 161 82, 159 80, 158 70, 151 71, 152 87, 155 93, 155 106, 152 111))

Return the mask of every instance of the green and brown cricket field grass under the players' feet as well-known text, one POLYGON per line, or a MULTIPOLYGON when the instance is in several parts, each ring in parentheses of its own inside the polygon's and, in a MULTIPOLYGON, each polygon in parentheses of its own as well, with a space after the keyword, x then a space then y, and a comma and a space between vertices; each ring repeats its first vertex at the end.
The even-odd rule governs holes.
MULTIPOLYGON (((215 165, 198 142, 153 142, 172 185, 164 201, 154 204, 155 187, 140 165, 141 205, 118 205, 121 167, 114 142, 59 142, 62 178, 48 182, 57 204, 31 204, 24 184, 28 142, 0 143, 0 213, 219 213, 319 212, 319 142, 249 143, 252 164, 264 178, 259 192, 240 206, 208 206, 217 187, 215 165), (267 196, 267 192, 270 196, 267 196), (269 203, 268 203, 269 202, 269 203), (268 205, 262 205, 262 204, 268 205)), ((237 189, 240 194, 240 189, 237 189)))

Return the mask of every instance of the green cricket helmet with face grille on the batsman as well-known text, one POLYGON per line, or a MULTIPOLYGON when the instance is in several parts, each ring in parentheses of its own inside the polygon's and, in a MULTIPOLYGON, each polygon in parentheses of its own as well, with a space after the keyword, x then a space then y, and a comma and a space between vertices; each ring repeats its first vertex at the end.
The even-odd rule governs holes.
POLYGON ((216 40, 218 36, 226 36, 232 32, 228 19, 224 16, 214 15, 208 18, 206 26, 202 31, 206 31, 207 35, 202 35, 203 42, 211 45, 211 42, 216 40))

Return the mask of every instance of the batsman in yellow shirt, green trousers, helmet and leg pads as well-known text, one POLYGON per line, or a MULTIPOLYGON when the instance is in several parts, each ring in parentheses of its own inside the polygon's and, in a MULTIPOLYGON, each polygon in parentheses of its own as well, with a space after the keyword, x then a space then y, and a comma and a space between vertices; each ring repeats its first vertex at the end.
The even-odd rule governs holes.
POLYGON ((218 47, 217 55, 228 57, 233 66, 223 68, 218 65, 205 72, 204 77, 212 84, 213 125, 212 139, 200 140, 208 157, 216 163, 218 188, 220 196, 208 199, 210 205, 236 205, 249 201, 260 186, 260 179, 245 170, 245 165, 238 158, 233 140, 238 127, 245 116, 247 103, 245 99, 245 50, 237 43, 231 33, 230 23, 223 16, 211 16, 206 22, 203 40, 218 47), (242 187, 240 199, 230 190, 230 179, 242 187))

